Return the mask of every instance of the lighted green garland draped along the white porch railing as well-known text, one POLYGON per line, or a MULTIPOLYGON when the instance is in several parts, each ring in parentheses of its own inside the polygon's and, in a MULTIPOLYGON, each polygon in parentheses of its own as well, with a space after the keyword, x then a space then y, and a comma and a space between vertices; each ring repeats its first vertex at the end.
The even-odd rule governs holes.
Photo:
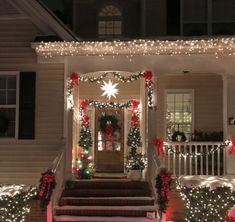
MULTIPOLYGON (((175 145, 175 146, 172 146, 172 145, 167 145, 165 146, 165 150, 166 150, 166 153, 170 153, 170 154, 176 154, 176 155, 180 155, 180 156, 183 156, 183 157, 200 157, 200 156, 209 156, 213 153, 215 153, 216 151, 218 150, 223 150, 225 148, 227 148, 230 144, 230 141, 225 141, 223 143, 221 143, 220 145, 218 146, 213 146, 212 149, 210 149, 208 152, 203 150, 202 152, 199 151, 199 152, 187 152, 187 151, 180 151, 180 145, 175 145)), ((166 145, 166 144, 165 144, 166 145)), ((187 146, 187 143, 186 143, 186 146, 187 146)), ((185 147, 185 145, 184 145, 185 147)), ((188 146, 189 147, 189 146, 188 146)), ((197 147, 197 145, 194 145, 194 147, 197 147)))

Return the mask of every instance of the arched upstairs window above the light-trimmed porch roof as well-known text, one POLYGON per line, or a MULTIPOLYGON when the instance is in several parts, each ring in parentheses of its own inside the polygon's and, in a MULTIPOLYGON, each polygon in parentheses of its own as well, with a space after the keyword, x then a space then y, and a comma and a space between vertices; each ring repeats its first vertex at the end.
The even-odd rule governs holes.
POLYGON ((99 37, 120 37, 122 35, 122 13, 114 5, 101 8, 98 15, 99 37))

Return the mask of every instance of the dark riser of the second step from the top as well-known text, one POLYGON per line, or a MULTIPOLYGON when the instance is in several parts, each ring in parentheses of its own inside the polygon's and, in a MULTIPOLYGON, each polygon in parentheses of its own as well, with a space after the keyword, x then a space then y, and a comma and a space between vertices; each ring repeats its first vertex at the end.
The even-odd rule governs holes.
POLYGON ((66 189, 63 197, 139 197, 151 196, 150 190, 144 189, 66 189))

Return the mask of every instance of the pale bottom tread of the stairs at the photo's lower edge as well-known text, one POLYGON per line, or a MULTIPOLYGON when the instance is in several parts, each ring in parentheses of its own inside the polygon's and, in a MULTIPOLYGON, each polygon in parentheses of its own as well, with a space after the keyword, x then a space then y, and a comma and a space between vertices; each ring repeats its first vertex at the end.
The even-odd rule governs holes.
POLYGON ((79 217, 55 216, 53 222, 157 222, 146 217, 79 217))

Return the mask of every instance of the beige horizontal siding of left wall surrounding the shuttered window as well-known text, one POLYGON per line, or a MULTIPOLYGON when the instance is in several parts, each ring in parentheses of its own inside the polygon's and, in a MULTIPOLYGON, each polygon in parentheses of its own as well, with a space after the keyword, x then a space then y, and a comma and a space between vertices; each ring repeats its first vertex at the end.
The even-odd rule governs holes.
POLYGON ((64 66, 37 64, 31 42, 38 34, 27 18, 0 17, 0 70, 36 72, 35 139, 0 138, 0 183, 37 183, 61 148, 64 66))

